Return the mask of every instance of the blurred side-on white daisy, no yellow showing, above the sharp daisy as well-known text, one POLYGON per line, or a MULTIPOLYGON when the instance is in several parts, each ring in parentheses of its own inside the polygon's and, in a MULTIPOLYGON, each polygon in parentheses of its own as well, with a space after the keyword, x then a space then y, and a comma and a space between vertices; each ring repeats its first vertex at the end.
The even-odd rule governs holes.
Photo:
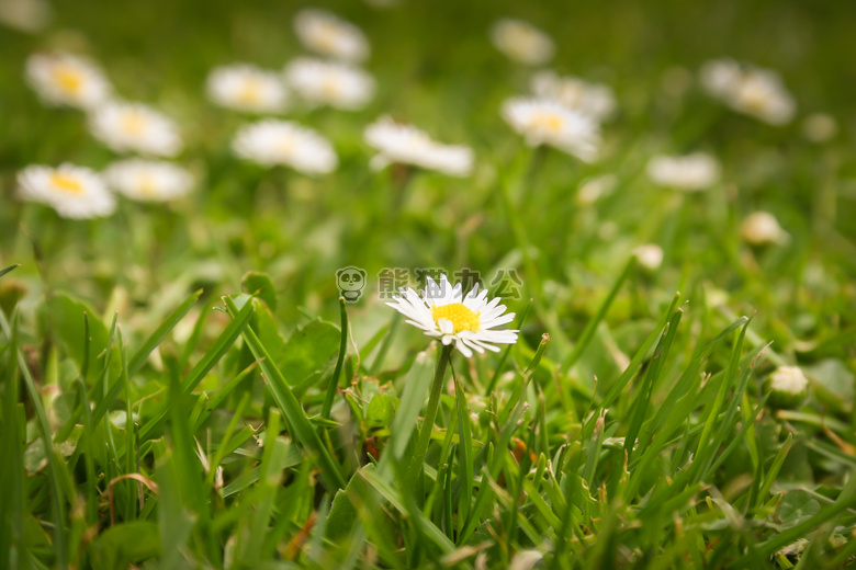
POLYGON ((365 141, 378 149, 371 166, 380 170, 393 162, 438 170, 450 176, 466 176, 473 169, 473 150, 460 145, 443 145, 425 132, 382 117, 365 127, 365 141))

